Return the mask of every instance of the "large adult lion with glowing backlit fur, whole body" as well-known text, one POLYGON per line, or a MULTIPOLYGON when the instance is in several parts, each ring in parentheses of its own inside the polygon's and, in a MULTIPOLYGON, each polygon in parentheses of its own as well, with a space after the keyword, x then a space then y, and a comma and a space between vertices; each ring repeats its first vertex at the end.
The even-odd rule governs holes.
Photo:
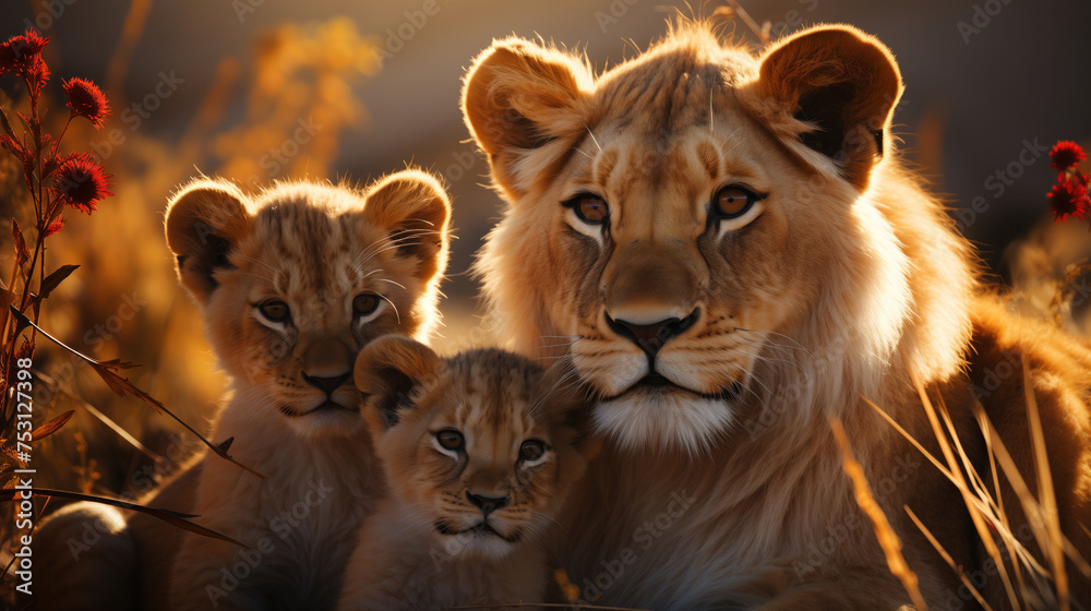
MULTIPOLYGON (((478 266, 493 316, 523 352, 571 355, 609 438, 558 542, 590 602, 909 603, 842 472, 838 418, 927 601, 961 603, 960 582, 907 504, 968 573, 991 575, 983 596, 1003 608, 963 499, 865 398, 928 440, 923 384, 995 490, 972 410, 1033 481, 1023 362, 1062 530, 1091 558, 1091 350, 980 286, 968 243, 894 152, 901 91, 889 50, 848 26, 755 57, 685 23, 601 75, 519 38, 473 62, 466 121, 509 204, 478 266), (556 337, 571 346, 551 349, 556 337)), ((1088 577, 1067 571, 1091 604, 1088 577)))

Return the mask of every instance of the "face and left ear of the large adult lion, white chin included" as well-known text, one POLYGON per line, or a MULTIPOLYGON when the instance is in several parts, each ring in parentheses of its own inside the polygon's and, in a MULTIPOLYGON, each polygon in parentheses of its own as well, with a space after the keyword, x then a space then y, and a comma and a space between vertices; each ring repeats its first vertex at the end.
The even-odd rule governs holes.
MULTIPOLYGON (((807 124, 781 112, 798 100, 762 97, 779 59, 759 79, 707 33, 679 38, 594 82, 560 53, 497 43, 464 104, 513 204, 481 268, 516 333, 540 336, 524 348, 562 338, 600 430, 694 450, 776 392, 763 368, 861 288, 865 235, 882 228, 855 202, 882 132, 825 157, 808 147, 831 145, 800 142, 807 124)), ((829 119, 851 99, 828 105, 814 122, 855 130, 829 119)))

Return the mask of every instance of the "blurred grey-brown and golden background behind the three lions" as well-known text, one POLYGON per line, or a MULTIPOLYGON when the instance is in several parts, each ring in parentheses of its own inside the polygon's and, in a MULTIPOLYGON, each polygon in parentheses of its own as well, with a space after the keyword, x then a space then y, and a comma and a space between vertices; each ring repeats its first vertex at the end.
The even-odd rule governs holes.
MULTIPOLYGON (((490 340, 477 318, 477 285, 466 273, 500 211, 458 110, 471 58, 493 37, 514 32, 582 49, 602 70, 647 48, 675 11, 709 15, 718 5, 3 0, 0 38, 32 26, 52 37, 46 53, 55 97, 48 105, 58 124, 51 129, 67 115, 56 97, 61 76, 104 83, 113 107, 103 130, 73 123, 74 133, 65 136, 105 160, 116 196, 93 217, 69 214, 68 227, 51 239, 50 269, 62 263, 81 268, 47 302, 43 326, 92 357, 141 363, 130 379, 206 431, 225 379, 216 373, 196 308, 175 278, 163 238, 167 195, 200 173, 256 190, 283 178, 362 184, 415 163, 449 185, 459 237, 444 287, 447 326, 436 344, 449 351, 490 340)), ((951 194, 951 214, 980 245, 988 268, 1018 281, 1031 296, 1028 308, 1040 312, 1050 311, 1058 287, 1091 290, 1086 277, 1080 288, 1079 278, 1066 276, 1070 263, 1091 254, 1091 239, 1080 226, 1051 223, 1045 193, 1055 177, 1044 153, 1029 165, 1020 161, 1028 142, 1091 144, 1089 85, 1086 71, 1077 70, 1087 57, 1091 3, 745 5, 770 22, 774 38, 807 24, 849 22, 887 43, 907 82, 895 117, 902 148, 938 191, 951 194), (1005 255, 1015 240, 1020 245, 1005 255)), ((757 46, 736 22, 723 23, 723 31, 757 46)), ((3 98, 8 107, 24 101, 14 80, 0 80, 4 94, 12 98, 3 98)), ((14 161, 0 155, 0 225, 24 214, 21 189, 14 161)), ((0 269, 10 268, 10 244, 4 249, 0 269)), ((1072 328, 1091 326, 1086 306, 1067 315, 1072 328)), ((168 419, 116 397, 94 373, 44 342, 35 367, 55 391, 36 406, 38 417, 76 409, 60 433, 36 445, 38 486, 140 494, 152 476, 197 447, 168 419)))

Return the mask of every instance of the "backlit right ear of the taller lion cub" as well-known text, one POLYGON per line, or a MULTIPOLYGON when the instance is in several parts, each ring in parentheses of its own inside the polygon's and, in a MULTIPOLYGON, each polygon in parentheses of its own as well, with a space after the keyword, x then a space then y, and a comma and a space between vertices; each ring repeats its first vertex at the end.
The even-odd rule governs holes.
POLYGON ((383 178, 368 190, 363 212, 389 231, 399 254, 417 257, 422 281, 447 267, 451 201, 430 175, 404 170, 383 178))

